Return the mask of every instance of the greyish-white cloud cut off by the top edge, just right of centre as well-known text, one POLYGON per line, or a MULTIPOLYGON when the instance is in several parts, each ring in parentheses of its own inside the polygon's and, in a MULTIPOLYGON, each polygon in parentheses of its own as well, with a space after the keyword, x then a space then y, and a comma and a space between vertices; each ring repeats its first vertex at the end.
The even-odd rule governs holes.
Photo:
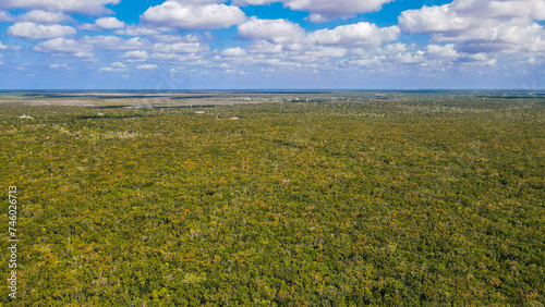
POLYGON ((311 21, 324 22, 336 17, 351 17, 355 14, 378 11, 392 0, 233 0, 234 5, 263 5, 282 2, 296 11, 311 12, 311 21))

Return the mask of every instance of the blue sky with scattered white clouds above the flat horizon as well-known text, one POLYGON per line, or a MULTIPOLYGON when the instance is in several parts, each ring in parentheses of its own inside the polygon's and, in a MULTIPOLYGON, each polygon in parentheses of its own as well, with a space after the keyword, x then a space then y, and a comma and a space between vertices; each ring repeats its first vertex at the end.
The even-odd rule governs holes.
POLYGON ((543 0, 2 0, 0 89, 543 89, 543 0))

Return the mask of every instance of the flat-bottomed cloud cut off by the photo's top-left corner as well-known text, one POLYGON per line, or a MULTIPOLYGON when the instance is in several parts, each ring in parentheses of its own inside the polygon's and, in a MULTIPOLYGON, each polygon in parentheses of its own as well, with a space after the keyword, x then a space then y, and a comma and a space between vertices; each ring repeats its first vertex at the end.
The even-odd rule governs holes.
POLYGON ((106 4, 118 4, 121 0, 2 0, 0 9, 36 9, 99 15, 109 13, 106 4))

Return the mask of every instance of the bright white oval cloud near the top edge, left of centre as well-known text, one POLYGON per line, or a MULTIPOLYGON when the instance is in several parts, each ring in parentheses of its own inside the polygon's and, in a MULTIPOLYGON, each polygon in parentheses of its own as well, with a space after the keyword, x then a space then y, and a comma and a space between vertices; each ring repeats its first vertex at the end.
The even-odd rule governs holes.
POLYGON ((141 19, 159 27, 181 29, 225 28, 242 23, 246 19, 238 7, 207 2, 214 1, 168 0, 160 5, 149 8, 141 19))

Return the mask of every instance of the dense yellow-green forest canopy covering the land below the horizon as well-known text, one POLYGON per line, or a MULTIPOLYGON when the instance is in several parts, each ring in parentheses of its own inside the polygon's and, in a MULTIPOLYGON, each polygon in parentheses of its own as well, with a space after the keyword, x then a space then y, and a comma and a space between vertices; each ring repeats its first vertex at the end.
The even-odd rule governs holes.
POLYGON ((0 302, 545 300, 543 100, 195 110, 0 105, 23 266, 0 302))

